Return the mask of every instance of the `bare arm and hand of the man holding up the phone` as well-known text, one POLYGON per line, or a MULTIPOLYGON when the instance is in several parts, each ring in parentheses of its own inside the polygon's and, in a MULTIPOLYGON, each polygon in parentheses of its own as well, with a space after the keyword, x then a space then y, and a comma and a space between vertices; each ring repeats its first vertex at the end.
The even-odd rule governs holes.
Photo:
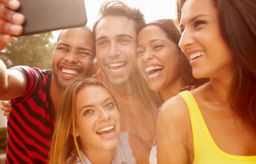
MULTIPOLYGON (((22 33, 25 17, 15 9, 20 7, 18 0, 0 0, 0 50, 4 49, 12 36, 22 33)), ((0 100, 10 100, 23 95, 26 90, 24 75, 15 69, 8 70, 0 60, 0 100)))

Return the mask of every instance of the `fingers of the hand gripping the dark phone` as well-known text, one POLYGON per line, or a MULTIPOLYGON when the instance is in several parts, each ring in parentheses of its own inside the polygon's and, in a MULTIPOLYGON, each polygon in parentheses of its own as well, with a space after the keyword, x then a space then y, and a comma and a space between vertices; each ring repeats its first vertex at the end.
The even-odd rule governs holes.
POLYGON ((23 31, 21 25, 25 17, 15 12, 19 7, 18 0, 0 0, 0 50, 12 41, 12 36, 18 36, 23 31))

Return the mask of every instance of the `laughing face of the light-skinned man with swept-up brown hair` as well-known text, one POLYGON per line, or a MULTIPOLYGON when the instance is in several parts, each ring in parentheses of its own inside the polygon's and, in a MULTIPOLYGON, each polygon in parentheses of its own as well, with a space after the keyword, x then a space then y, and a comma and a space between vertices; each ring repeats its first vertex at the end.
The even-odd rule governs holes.
POLYGON ((136 68, 135 22, 123 16, 102 18, 95 30, 99 67, 112 85, 129 81, 136 68))

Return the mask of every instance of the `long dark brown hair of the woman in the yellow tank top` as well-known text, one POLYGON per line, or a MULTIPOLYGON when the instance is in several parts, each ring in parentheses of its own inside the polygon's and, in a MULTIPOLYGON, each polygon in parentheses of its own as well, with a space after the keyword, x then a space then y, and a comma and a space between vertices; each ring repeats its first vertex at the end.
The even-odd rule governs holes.
MULTIPOLYGON (((177 16, 186 0, 177 1, 177 16)), ((254 0, 211 0, 219 28, 236 60, 230 106, 256 131, 256 3, 254 0)))

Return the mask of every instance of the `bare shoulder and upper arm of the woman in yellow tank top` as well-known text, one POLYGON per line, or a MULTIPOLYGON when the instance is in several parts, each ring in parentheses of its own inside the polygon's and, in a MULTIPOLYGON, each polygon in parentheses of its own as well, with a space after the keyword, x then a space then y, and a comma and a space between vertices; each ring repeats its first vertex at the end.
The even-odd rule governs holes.
POLYGON ((190 128, 187 104, 177 95, 162 105, 158 117, 157 163, 187 164, 187 136, 190 128))

